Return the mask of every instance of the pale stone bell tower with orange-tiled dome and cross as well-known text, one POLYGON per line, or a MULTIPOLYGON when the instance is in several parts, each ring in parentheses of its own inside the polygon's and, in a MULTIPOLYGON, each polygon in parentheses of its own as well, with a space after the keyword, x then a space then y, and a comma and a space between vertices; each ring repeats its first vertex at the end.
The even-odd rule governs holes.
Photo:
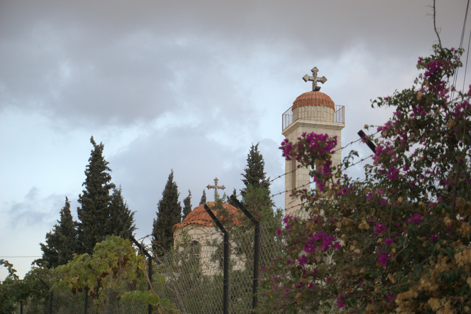
MULTIPOLYGON (((312 91, 300 94, 293 102, 293 105, 283 114, 282 134, 291 142, 296 142, 302 133, 325 134, 329 136, 337 135, 337 146, 332 157, 332 165, 341 163, 341 130, 345 127, 344 106, 334 104, 332 99, 324 93, 319 92, 320 86, 327 81, 325 76, 317 77, 317 70, 314 67, 312 76, 306 74, 302 79, 312 81, 312 91)), ((309 169, 298 168, 300 163, 295 159, 285 161, 285 182, 284 182, 284 209, 285 214, 295 214, 300 209, 299 198, 290 196, 294 189, 310 189, 311 180, 309 169)))

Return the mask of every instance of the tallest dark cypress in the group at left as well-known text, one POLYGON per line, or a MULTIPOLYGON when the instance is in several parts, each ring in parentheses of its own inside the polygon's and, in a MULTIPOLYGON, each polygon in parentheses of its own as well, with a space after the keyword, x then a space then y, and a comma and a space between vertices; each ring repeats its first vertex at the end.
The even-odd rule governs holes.
POLYGON ((108 219, 110 216, 109 204, 112 196, 109 191, 115 185, 110 183, 111 169, 108 162, 103 157, 103 143, 99 145, 90 138, 93 145, 89 165, 85 169, 85 182, 82 186, 83 194, 79 195, 78 202, 81 207, 77 207, 77 215, 80 220, 78 228, 79 241, 83 245, 82 253, 93 252, 97 242, 101 242, 108 234, 108 219), (105 228, 104 228, 105 227, 105 228))

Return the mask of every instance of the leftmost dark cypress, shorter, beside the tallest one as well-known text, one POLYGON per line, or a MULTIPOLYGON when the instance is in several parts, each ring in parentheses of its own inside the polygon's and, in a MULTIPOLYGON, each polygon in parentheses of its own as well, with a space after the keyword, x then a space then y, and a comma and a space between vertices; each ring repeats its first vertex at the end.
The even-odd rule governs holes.
POLYGON ((65 205, 60 211, 60 220, 46 234, 46 244, 40 243, 42 258, 33 263, 41 267, 55 268, 64 265, 79 251, 77 229, 70 212, 70 203, 65 196, 65 205))

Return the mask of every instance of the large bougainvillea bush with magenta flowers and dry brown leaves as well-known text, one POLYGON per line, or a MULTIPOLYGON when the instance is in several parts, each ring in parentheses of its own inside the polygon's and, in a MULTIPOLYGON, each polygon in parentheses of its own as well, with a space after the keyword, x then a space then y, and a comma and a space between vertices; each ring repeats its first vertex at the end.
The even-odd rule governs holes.
POLYGON ((261 311, 471 312, 471 86, 451 85, 463 50, 433 48, 412 88, 373 101, 395 112, 365 126, 376 144, 365 179, 345 174, 357 152, 332 165, 335 138, 282 142, 317 188, 294 192, 309 218, 277 230, 285 253, 262 267, 261 311))

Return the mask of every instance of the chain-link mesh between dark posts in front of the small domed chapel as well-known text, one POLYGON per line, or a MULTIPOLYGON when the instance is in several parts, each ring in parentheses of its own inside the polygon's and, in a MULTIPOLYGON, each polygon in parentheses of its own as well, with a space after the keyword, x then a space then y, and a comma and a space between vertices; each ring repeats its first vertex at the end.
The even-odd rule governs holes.
MULTIPOLYGON (((275 236, 276 228, 281 227, 281 212, 260 216, 261 267, 272 264, 284 245, 275 236)), ((255 228, 240 212, 236 220, 229 216, 221 223, 230 247, 228 313, 248 313, 252 309, 255 228)), ((157 266, 164 278, 157 292, 160 297, 171 299, 184 314, 223 313, 223 236, 218 228, 190 226, 161 262, 157 266)), ((259 280, 263 275, 260 272, 259 280)), ((261 294, 259 291, 259 299, 261 294)))

